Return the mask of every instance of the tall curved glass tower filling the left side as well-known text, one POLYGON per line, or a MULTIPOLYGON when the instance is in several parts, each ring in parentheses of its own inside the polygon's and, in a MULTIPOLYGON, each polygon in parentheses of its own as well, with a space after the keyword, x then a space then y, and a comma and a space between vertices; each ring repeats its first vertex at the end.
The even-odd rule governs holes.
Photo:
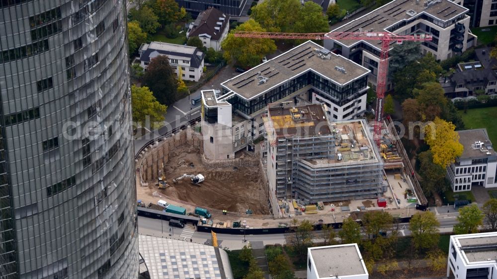
POLYGON ((125 0, 0 0, 0 278, 137 278, 125 0))

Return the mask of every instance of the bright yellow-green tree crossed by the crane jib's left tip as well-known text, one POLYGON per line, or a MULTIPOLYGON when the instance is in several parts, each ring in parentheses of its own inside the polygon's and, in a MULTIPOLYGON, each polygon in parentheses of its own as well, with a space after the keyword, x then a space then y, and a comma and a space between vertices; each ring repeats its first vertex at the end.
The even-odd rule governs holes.
POLYGON ((266 54, 276 50, 276 45, 271 39, 235 37, 234 32, 236 31, 265 32, 266 30, 260 27, 253 19, 249 19, 247 22, 239 25, 234 31, 231 31, 221 43, 224 50, 224 58, 227 61, 235 61, 242 67, 251 68, 259 65, 266 54))

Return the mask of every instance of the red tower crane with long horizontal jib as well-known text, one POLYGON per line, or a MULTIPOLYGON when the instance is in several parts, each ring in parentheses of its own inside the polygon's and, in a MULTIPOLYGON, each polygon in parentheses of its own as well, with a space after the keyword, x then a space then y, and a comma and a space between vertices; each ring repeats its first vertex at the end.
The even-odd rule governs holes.
POLYGON ((249 32, 236 31, 235 37, 245 38, 270 38, 270 39, 307 39, 307 40, 380 40, 381 52, 378 65, 378 80, 376 85, 376 110, 374 120, 373 139, 380 145, 381 126, 383 120, 383 99, 385 98, 388 52, 392 41, 431 41, 431 34, 394 34, 390 32, 329 32, 329 33, 275 33, 275 32, 249 32))

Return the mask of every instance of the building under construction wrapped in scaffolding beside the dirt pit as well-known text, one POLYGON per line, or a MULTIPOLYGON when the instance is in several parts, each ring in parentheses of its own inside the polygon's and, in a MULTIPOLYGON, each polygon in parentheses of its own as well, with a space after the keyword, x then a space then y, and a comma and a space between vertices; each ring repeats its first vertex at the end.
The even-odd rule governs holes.
POLYGON ((263 119, 270 191, 305 203, 382 196, 383 162, 366 121, 331 122, 326 110, 293 102, 267 107, 263 119))

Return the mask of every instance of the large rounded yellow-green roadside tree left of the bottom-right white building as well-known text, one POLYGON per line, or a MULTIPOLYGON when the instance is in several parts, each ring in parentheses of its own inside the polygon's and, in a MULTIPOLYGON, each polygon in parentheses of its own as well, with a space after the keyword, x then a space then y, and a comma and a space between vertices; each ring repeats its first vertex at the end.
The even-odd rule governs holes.
POLYGON ((440 238, 439 225, 440 222, 431 211, 414 214, 410 221, 414 247, 419 251, 434 247, 440 238))

